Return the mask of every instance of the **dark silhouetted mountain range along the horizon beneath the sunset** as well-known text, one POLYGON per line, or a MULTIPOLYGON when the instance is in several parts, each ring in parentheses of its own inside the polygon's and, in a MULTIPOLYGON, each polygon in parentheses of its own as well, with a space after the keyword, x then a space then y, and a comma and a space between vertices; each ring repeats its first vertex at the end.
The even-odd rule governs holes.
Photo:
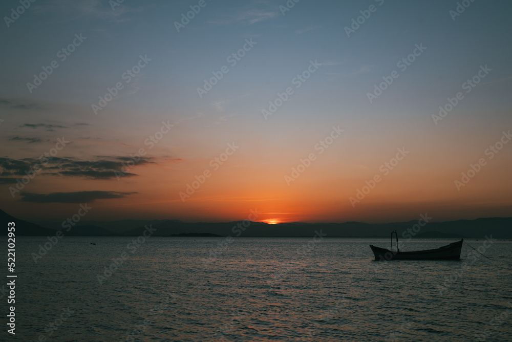
MULTIPOLYGON (((139 236, 144 231, 144 226, 151 224, 152 228, 156 228, 153 236, 313 237, 315 231, 320 232, 322 230, 323 236, 331 238, 388 238, 391 231, 397 230, 401 239, 408 238, 408 234, 413 236, 413 233, 413 238, 480 239, 492 234, 495 239, 512 239, 512 218, 430 222, 423 227, 416 225, 418 221, 379 224, 361 222, 267 224, 264 222, 250 222, 247 227, 244 227, 242 221, 186 223, 179 220, 121 220, 80 222, 81 224, 77 224, 66 231, 66 229, 55 226, 55 224, 43 227, 20 220, 0 209, 0 224, 2 227, 7 227, 8 222, 16 223, 16 236, 49 236, 54 235, 59 228, 64 236, 139 236), (418 228, 420 229, 418 230, 418 228), (415 232, 414 229, 417 231, 415 232)), ((245 223, 248 224, 247 221, 245 223)), ((2 230, 2 234, 6 235, 7 229, 2 230)))

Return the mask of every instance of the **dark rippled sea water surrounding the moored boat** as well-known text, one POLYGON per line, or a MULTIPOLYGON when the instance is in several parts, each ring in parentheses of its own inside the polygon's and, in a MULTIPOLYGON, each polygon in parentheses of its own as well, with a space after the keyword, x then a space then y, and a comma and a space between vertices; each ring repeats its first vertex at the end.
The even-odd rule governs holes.
POLYGON ((510 242, 492 260, 464 245, 461 261, 375 262, 368 245, 389 239, 134 240, 64 237, 35 263, 48 240, 16 238, 2 340, 512 341, 510 242))

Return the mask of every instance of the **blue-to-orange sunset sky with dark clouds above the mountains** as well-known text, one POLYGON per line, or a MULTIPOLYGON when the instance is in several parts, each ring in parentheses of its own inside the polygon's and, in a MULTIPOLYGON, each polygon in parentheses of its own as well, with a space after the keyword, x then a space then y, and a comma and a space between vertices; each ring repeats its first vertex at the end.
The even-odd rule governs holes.
POLYGON ((512 5, 463 3, 3 2, 0 208, 510 217, 512 5))

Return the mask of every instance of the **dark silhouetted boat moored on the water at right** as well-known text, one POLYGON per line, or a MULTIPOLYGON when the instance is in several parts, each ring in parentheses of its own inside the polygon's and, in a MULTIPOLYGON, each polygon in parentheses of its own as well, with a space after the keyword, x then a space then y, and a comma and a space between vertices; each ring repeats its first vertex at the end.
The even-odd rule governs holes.
POLYGON ((396 230, 391 233, 391 250, 370 245, 375 260, 459 260, 462 242, 451 243, 436 249, 418 250, 414 252, 400 252, 398 248, 398 234, 396 230), (393 251, 393 234, 396 235, 396 251, 393 251))

